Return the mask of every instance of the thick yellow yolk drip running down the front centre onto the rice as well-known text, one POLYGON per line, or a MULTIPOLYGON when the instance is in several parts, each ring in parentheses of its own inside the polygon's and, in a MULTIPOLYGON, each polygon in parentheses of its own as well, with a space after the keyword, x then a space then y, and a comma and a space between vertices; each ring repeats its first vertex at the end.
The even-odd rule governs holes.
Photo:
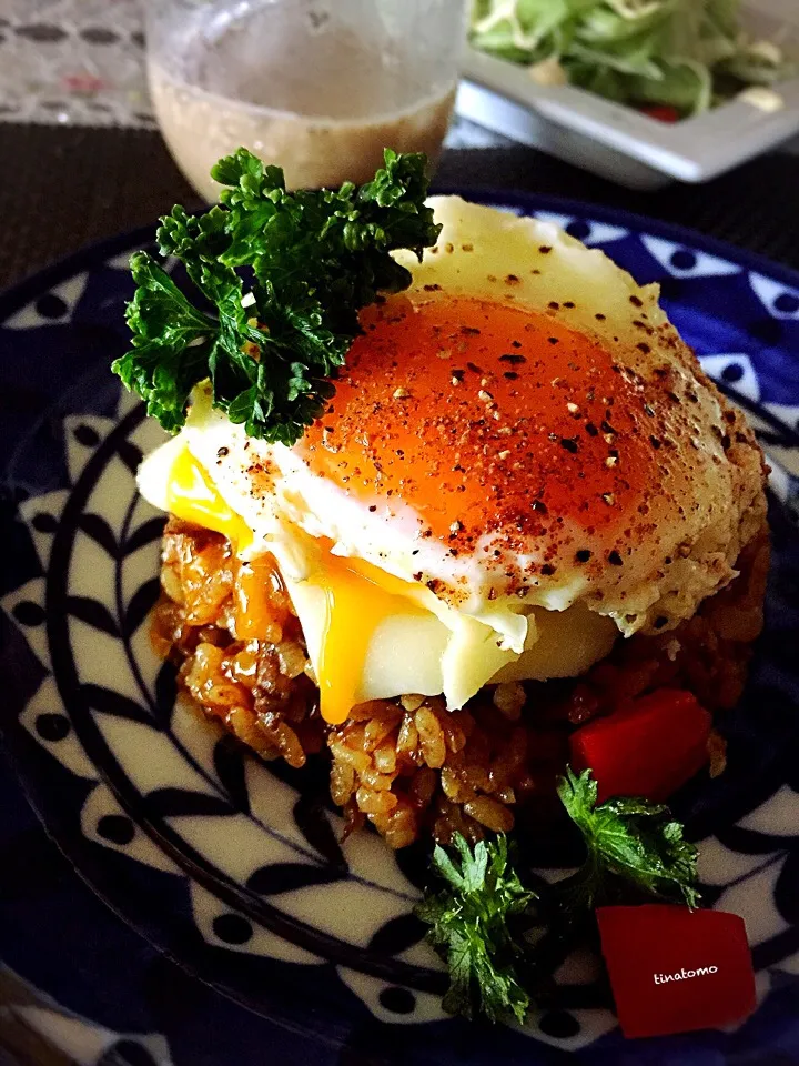
POLYGON ((360 559, 326 555, 310 579, 325 594, 317 668, 320 708, 331 725, 344 722, 357 700, 368 646, 377 626, 397 614, 425 614, 414 586, 360 559))

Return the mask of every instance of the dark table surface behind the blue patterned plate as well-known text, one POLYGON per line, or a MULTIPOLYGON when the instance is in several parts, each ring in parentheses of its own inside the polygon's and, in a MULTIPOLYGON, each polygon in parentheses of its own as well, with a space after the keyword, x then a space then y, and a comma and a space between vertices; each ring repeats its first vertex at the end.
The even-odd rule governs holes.
MULTIPOLYGON (((0 288, 78 248, 199 201, 160 134, 0 124, 0 288)), ((799 157, 771 154, 705 185, 630 192, 529 148, 445 152, 442 188, 556 194, 679 222, 799 269, 799 157)))

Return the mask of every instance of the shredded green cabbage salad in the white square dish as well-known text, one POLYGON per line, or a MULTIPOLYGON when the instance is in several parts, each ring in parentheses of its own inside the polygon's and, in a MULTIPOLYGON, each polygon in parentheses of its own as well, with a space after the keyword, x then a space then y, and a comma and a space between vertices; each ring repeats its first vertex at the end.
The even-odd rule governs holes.
POLYGON ((674 118, 699 114, 795 72, 779 44, 754 40, 739 0, 474 0, 472 44, 570 83, 674 118))

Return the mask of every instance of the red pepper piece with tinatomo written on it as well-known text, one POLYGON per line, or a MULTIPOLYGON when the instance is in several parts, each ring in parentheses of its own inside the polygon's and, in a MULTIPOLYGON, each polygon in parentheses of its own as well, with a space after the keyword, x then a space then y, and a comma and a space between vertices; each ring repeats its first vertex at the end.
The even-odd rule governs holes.
POLYGON ((740 1022, 755 1009, 744 919, 668 904, 597 909, 625 1036, 665 1036, 740 1022))

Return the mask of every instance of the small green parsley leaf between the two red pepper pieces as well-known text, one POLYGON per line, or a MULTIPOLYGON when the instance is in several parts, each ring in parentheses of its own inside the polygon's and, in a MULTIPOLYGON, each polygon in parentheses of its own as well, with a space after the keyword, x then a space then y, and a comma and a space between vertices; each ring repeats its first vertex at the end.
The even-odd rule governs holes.
POLYGON ((697 849, 682 838, 682 826, 661 803, 638 797, 608 800, 597 806, 597 783, 590 770, 569 767, 558 795, 580 829, 587 848, 585 865, 562 882, 572 905, 594 906, 614 877, 655 896, 699 904, 697 849))

